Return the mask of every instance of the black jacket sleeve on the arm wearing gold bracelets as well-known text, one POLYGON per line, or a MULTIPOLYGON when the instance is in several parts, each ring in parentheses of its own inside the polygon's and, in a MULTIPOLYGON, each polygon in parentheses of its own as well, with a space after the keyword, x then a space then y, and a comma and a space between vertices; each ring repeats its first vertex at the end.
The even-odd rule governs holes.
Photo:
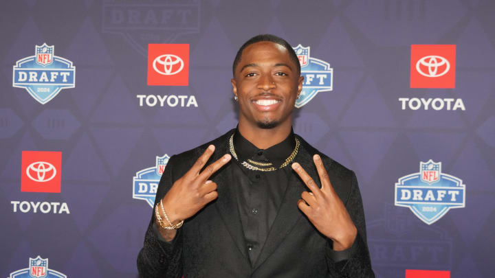
MULTIPOLYGON (((166 192, 174 183, 173 158, 170 157, 165 167, 164 174, 160 178, 155 206, 165 196, 166 192)), ((154 206, 154 207, 155 207, 154 206)), ((144 235, 144 244, 139 255, 137 255, 137 270, 140 277, 182 277, 182 237, 179 231, 171 242, 165 242, 153 222, 154 209, 150 224, 144 235)))

